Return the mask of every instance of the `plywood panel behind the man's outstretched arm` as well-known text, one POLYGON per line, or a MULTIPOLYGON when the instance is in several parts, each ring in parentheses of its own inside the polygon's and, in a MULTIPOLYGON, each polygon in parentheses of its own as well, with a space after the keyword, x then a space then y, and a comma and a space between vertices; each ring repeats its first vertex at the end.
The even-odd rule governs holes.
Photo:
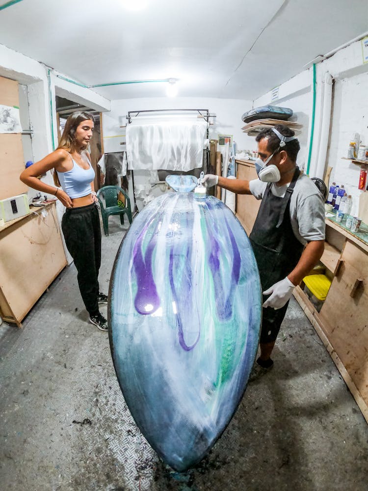
MULTIPOLYGON (((257 177, 256 168, 253 163, 248 164, 237 161, 237 179, 251 181, 252 179, 257 179, 257 177)), ((261 200, 256 199, 254 196, 250 194, 237 194, 236 216, 248 236, 252 231, 260 206, 261 200)))

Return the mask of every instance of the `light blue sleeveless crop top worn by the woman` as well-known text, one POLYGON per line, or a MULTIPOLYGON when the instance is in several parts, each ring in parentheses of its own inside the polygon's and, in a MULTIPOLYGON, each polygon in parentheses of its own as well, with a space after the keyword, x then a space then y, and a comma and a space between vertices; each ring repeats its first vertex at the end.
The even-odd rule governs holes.
POLYGON ((72 161, 73 167, 71 170, 56 172, 63 191, 71 198, 81 198, 91 193, 91 182, 95 178, 95 171, 89 161, 88 169, 82 169, 74 159, 72 161))

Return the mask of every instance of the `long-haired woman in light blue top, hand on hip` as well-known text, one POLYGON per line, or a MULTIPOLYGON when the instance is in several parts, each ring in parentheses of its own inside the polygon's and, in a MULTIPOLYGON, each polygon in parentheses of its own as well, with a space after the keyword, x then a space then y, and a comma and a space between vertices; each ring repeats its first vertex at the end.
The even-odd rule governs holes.
POLYGON ((79 291, 89 313, 89 322, 107 331, 107 321, 98 306, 107 303, 107 297, 99 293, 98 283, 101 229, 93 185, 95 172, 86 151, 93 128, 93 116, 88 112, 71 114, 57 149, 24 170, 20 179, 30 188, 54 194, 66 207, 61 228, 78 271, 79 291), (56 188, 37 179, 51 169, 56 188))

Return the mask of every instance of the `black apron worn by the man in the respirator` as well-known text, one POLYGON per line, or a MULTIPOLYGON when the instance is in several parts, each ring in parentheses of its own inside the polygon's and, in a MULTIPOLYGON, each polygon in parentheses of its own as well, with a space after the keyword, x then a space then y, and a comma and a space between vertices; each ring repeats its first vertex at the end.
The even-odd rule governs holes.
MULTIPOLYGON (((290 196, 300 170, 296 167, 283 198, 274 196, 268 184, 256 221, 249 236, 260 272, 262 291, 282 280, 297 265, 303 245, 295 237, 290 221, 290 196)), ((263 295, 263 302, 268 298, 263 295)), ((263 308, 261 343, 275 341, 284 320, 289 301, 275 310, 263 308)))

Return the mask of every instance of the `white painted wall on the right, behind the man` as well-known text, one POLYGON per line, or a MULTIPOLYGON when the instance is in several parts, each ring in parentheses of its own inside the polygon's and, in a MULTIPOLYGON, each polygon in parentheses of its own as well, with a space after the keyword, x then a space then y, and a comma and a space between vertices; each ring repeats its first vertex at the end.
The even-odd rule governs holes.
MULTIPOLYGON (((271 91, 254 101, 254 107, 272 104, 293 109, 291 120, 304 125, 303 132, 298 136, 301 150, 298 164, 305 167, 311 135, 312 120, 312 67, 279 87, 279 99, 271 102, 271 91)), ((363 63, 362 45, 357 41, 338 51, 330 58, 316 65, 316 109, 315 131, 309 175, 315 176, 316 161, 319 149, 319 133, 321 123, 321 107, 323 97, 323 77, 329 72, 334 78, 333 102, 331 111, 331 127, 325 170, 333 168, 330 183, 344 184, 353 197, 352 213, 358 212, 358 190, 360 167, 351 164, 346 157, 347 147, 353 133, 361 135, 362 143, 368 144, 368 64, 363 63)))

